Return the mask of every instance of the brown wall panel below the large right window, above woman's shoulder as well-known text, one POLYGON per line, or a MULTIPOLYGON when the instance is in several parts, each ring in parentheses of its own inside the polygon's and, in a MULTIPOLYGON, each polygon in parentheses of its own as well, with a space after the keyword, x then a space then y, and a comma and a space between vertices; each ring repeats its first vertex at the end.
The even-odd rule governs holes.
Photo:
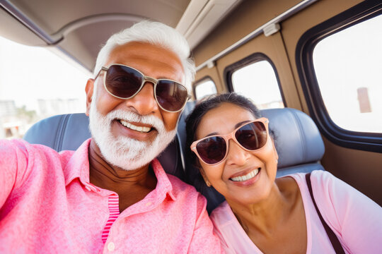
POLYGON ((382 154, 340 147, 323 138, 328 171, 382 205, 382 154))

